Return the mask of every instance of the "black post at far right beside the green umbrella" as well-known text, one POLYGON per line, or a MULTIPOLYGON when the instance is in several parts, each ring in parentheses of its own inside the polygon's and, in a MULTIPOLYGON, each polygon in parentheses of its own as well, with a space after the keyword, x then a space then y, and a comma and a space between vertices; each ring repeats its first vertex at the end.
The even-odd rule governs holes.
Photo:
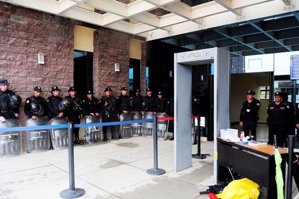
POLYGON ((289 162, 288 162, 288 184, 287 184, 287 199, 292 199, 292 168, 293 154, 295 148, 295 135, 288 135, 289 162))

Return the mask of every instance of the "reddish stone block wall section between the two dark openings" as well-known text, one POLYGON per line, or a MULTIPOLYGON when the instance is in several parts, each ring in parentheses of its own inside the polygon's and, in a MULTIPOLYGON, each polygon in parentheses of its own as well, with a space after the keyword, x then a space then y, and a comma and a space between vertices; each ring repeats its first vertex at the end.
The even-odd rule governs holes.
POLYGON ((131 35, 110 29, 98 29, 94 33, 93 81, 94 93, 98 97, 110 87, 117 97, 122 87, 129 85, 129 44, 131 35), (120 72, 114 71, 114 64, 120 64, 120 72))

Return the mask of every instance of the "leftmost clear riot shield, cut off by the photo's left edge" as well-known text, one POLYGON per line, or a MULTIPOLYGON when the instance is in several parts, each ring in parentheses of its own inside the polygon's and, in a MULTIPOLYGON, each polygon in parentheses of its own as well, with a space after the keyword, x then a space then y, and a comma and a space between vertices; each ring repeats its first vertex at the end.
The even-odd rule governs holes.
MULTIPOLYGON (((20 127, 21 123, 17 119, 6 119, 0 122, 0 128, 20 127)), ((0 132, 0 158, 22 153, 21 131, 0 132)))

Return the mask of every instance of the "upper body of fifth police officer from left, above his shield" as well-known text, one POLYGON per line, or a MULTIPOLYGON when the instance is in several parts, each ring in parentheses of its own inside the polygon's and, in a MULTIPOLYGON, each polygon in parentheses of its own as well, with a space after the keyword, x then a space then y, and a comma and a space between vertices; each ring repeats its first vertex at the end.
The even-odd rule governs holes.
POLYGON ((98 99, 93 97, 92 91, 87 92, 86 98, 83 100, 83 109, 86 111, 86 115, 99 116, 100 106, 98 99))

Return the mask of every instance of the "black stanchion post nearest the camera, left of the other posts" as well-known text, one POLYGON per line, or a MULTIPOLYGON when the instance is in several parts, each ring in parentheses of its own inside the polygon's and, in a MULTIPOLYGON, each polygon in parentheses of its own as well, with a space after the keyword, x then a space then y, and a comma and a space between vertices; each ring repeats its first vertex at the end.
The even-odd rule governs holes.
POLYGON ((60 192, 60 197, 64 199, 75 199, 85 194, 85 190, 75 188, 75 169, 74 169, 74 144, 73 144, 74 123, 68 123, 68 152, 69 152, 69 189, 60 192))

